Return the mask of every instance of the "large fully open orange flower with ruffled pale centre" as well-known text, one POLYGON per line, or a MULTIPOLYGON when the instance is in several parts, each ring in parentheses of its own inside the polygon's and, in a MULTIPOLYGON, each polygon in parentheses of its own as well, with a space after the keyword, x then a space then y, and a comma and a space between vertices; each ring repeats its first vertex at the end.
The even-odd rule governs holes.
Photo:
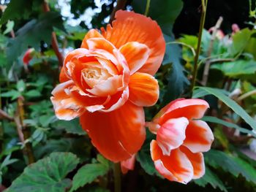
POLYGON ((91 29, 69 53, 51 97, 56 116, 80 117, 91 142, 111 161, 137 153, 145 139, 143 107, 159 96, 157 72, 165 40, 157 23, 119 10, 102 34, 91 29))

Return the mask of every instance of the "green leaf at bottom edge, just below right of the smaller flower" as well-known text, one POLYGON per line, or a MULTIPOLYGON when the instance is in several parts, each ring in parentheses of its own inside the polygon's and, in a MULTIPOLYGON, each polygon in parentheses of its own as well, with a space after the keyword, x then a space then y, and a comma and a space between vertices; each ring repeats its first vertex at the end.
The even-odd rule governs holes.
POLYGON ((219 177, 214 174, 214 172, 211 172, 210 169, 206 166, 206 174, 203 175, 202 178, 199 180, 194 180, 194 182, 205 188, 206 185, 209 183, 214 189, 219 188, 221 191, 227 192, 227 189, 225 188, 225 185, 222 183, 221 180, 219 180, 219 177))

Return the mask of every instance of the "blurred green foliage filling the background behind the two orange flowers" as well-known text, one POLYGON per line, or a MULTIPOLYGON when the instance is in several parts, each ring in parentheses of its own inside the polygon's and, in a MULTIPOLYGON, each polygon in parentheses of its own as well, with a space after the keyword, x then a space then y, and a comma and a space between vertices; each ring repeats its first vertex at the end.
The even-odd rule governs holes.
MULTIPOLYGON (((80 47, 90 28, 106 26, 116 1, 0 2, 0 191, 113 191, 113 164, 91 146, 78 120, 56 119, 50 91, 63 56, 80 47), (29 48, 31 61, 24 64, 29 48)), ((124 9, 145 12, 146 0, 125 2, 124 9)), ((193 91, 211 105, 204 120, 215 141, 205 154, 205 176, 188 185, 159 177, 148 132, 135 170, 122 176, 123 191, 256 191, 255 4, 208 1, 193 91)), ((189 96, 201 8, 201 1, 151 0, 148 16, 161 26, 167 49, 156 74, 159 101, 145 109, 147 120, 189 96)))

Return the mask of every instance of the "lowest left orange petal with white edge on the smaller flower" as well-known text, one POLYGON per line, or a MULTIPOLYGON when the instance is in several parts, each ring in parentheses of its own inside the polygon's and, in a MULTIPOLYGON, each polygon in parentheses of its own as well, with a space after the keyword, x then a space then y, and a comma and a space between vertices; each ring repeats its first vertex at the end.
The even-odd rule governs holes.
POLYGON ((152 140, 150 145, 151 158, 154 166, 163 177, 178 183, 189 183, 193 177, 193 166, 181 150, 172 150, 170 155, 163 155, 157 141, 152 140))

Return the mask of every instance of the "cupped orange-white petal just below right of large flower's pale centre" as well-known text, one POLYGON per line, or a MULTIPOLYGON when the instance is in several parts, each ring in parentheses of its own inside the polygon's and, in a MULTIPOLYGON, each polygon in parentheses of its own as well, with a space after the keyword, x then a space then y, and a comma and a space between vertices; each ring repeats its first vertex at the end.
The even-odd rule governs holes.
POLYGON ((122 86, 122 75, 115 75, 109 77, 108 80, 98 82, 93 88, 86 89, 86 91, 95 96, 112 96, 116 92, 121 91, 122 86))

